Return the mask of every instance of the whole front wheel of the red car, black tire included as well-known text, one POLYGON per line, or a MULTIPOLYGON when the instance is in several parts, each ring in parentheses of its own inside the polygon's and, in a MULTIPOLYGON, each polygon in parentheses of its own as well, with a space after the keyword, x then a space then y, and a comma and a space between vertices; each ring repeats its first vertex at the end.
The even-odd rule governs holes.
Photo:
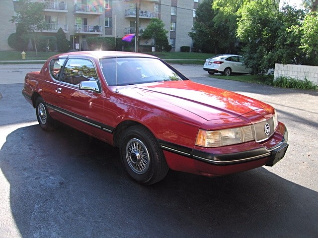
POLYGON ((123 133, 120 156, 128 174, 144 185, 159 182, 169 170, 157 139, 142 125, 123 133))

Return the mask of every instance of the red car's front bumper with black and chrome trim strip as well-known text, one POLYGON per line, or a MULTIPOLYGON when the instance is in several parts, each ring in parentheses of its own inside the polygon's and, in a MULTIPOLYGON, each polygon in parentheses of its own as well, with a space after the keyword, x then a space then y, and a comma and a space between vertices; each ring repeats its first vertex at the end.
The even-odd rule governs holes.
POLYGON ((205 176, 221 176, 273 166, 280 161, 288 148, 288 131, 279 123, 274 135, 262 143, 255 141, 216 148, 184 149, 161 144, 168 166, 172 170, 205 176))

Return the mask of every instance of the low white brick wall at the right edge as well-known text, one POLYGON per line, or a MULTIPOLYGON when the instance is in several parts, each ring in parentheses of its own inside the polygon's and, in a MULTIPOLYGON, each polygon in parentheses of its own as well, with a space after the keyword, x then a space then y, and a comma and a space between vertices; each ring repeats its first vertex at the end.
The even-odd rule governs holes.
POLYGON ((280 76, 300 80, 307 78, 318 84, 318 66, 275 63, 274 79, 280 76))

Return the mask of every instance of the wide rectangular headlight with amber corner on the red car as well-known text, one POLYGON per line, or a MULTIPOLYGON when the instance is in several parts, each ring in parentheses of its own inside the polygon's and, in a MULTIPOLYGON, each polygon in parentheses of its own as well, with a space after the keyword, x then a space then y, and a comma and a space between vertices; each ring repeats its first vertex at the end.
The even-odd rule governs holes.
POLYGON ((204 147, 219 147, 251 140, 254 140, 254 134, 252 126, 248 125, 214 131, 200 129, 195 144, 204 147))

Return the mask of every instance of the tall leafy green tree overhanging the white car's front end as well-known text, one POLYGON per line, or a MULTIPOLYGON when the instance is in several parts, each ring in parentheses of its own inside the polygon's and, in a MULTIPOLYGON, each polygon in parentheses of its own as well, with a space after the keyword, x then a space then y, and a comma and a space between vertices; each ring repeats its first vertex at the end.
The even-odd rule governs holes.
POLYGON ((271 1, 250 1, 240 8, 238 37, 246 43, 242 49, 244 64, 254 74, 264 74, 275 66, 276 39, 281 22, 271 1))

